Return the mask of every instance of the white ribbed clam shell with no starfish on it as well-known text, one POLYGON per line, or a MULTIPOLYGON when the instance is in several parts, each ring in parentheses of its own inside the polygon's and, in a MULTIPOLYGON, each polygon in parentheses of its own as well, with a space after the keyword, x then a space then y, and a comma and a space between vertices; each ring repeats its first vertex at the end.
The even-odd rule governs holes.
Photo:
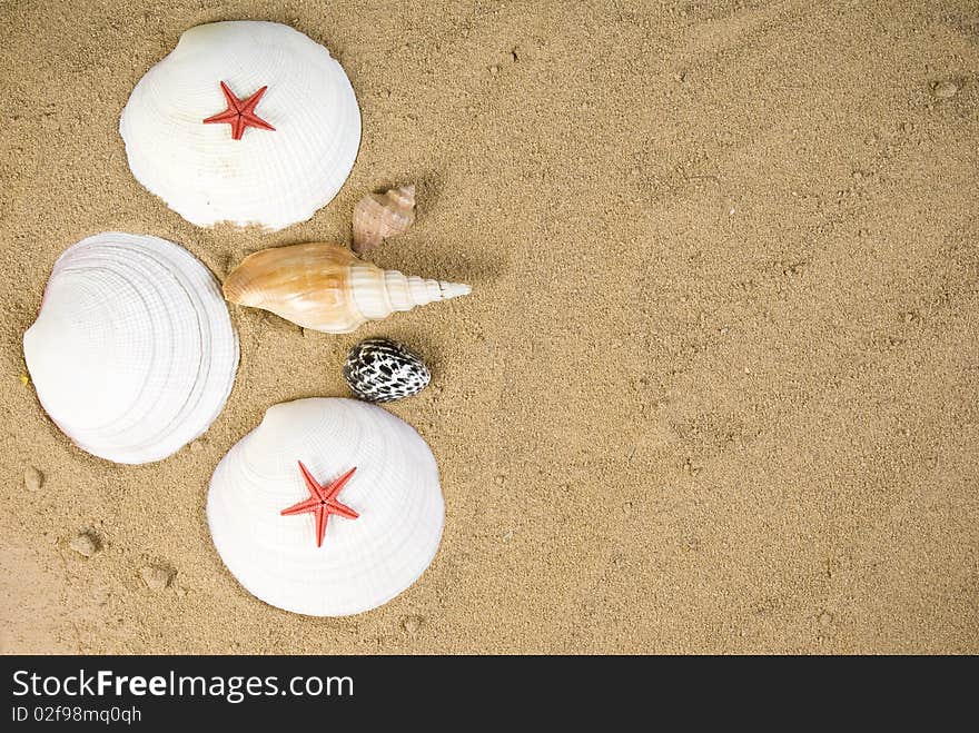
POLYGON ((194 255, 107 231, 58 258, 23 356, 68 437, 137 464, 179 450, 220 414, 238 337, 217 280, 194 255))

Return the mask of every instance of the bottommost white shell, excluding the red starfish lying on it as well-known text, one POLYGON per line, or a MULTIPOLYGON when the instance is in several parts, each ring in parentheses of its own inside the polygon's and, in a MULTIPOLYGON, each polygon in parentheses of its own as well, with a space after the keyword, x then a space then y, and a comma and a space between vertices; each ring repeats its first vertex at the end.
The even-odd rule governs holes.
POLYGON ((218 554, 253 595, 279 608, 344 616, 379 606, 428 567, 445 507, 438 467, 415 429, 354 399, 275 405, 210 479, 207 518, 218 554), (297 462, 320 484, 350 468, 316 546, 313 514, 280 512, 309 497, 297 462))

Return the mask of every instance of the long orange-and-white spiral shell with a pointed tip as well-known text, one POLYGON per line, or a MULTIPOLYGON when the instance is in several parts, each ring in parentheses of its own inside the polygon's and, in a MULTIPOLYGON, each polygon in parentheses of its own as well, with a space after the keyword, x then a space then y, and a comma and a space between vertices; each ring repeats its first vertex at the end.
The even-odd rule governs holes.
POLYGON ((308 242, 246 257, 224 285, 231 303, 263 308, 304 328, 348 334, 436 300, 468 295, 468 285, 383 270, 345 247, 308 242))

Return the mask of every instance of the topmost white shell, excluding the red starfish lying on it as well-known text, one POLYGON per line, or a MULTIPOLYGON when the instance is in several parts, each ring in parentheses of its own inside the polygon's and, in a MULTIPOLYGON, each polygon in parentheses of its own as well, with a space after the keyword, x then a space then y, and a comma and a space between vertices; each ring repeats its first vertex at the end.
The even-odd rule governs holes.
POLYGON ((188 221, 281 229, 328 204, 360 142, 360 110, 329 51, 288 26, 226 21, 186 31, 139 80, 119 132, 132 175, 188 221), (255 112, 275 131, 205 125, 264 86, 255 112))

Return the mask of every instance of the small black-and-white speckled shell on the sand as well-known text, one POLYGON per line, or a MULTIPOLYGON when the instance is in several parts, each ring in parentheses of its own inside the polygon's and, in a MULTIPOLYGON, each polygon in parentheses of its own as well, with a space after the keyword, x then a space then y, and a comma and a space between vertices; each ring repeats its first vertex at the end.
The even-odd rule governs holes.
POLYGON ((389 403, 417 395, 432 375, 422 357, 386 338, 360 341, 344 363, 344 379, 360 399, 389 403))

